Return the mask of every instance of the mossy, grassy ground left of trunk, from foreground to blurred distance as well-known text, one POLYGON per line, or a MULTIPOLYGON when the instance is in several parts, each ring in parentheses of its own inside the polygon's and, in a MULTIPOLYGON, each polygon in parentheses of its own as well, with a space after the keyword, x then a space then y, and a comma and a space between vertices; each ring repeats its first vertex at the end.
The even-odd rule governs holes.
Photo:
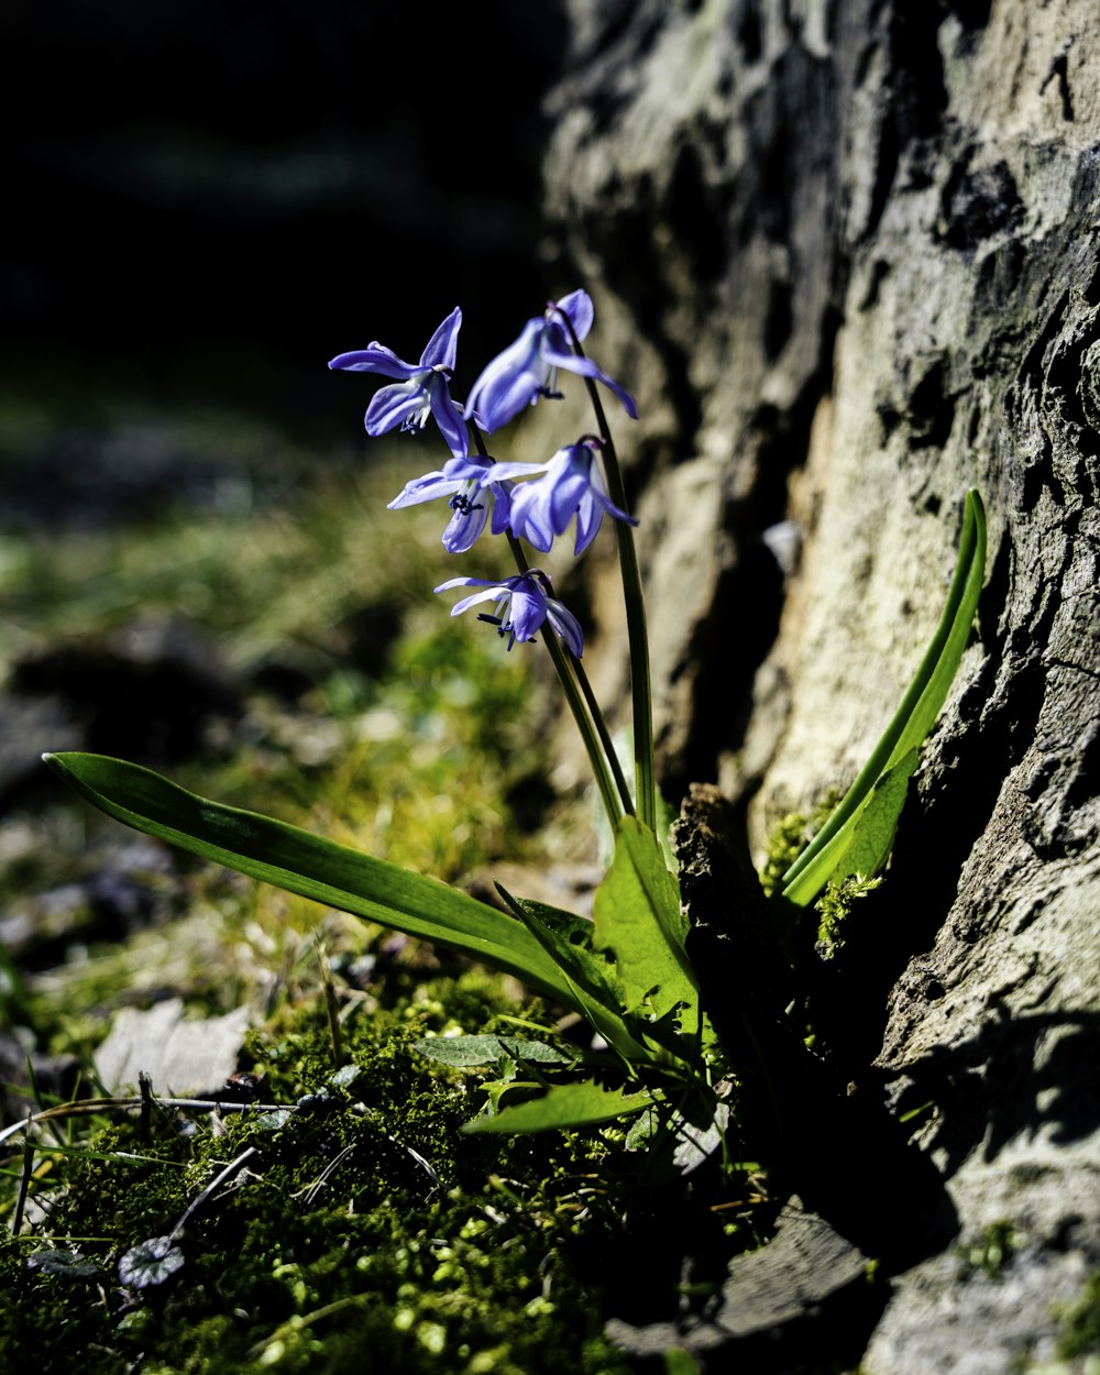
MULTIPOLYGON (((231 429, 192 426, 184 444, 226 462, 236 498, 221 507, 168 503, 140 518, 12 534, 0 660, 109 635, 135 616, 183 619, 248 685, 242 716, 166 770, 184 785, 448 880, 500 859, 590 858, 588 839, 576 855, 547 840, 534 646, 506 654, 430 595, 455 572, 505 572, 499 551, 458 568, 439 544, 440 510, 385 510, 421 455, 406 450, 400 466, 384 458, 371 473, 337 459, 319 473, 248 429, 227 458, 231 429), (385 635, 371 648, 378 624, 385 635), (293 701, 253 672, 271 661, 304 676, 293 701)), ((41 789, 6 825, 0 892, 16 906, 80 892, 125 837, 41 789)), ((122 866, 154 916, 125 935, 77 935, 63 960, 15 969, 0 1000, 6 1024, 89 1064, 121 1005, 183 994, 201 1016, 248 1004, 256 1030, 242 1068, 267 1075, 263 1103, 294 1111, 280 1121, 258 1108, 157 1110, 147 1132, 132 1111, 63 1118, 33 1134, 16 1235, 25 1158, 10 1138, 0 1368, 631 1368, 602 1336, 609 1292, 634 1292, 642 1308, 644 1291, 659 1292, 671 1312, 682 1276, 679 1257, 656 1257, 663 1202, 622 1134, 466 1136, 480 1074, 412 1048, 429 1033, 512 1030, 503 1015, 550 1024, 549 1013, 517 1004, 514 983, 186 857, 150 859, 143 848, 122 866), (351 1078, 334 1081, 316 934, 351 1078), (144 1288, 126 1283, 126 1253, 170 1235, 249 1148, 176 1236, 182 1268, 144 1288)), ((66 920, 78 924, 78 906, 66 920)), ((686 1194, 671 1200, 678 1216, 686 1194)), ((736 1225, 705 1203, 696 1211, 712 1239, 736 1225)))

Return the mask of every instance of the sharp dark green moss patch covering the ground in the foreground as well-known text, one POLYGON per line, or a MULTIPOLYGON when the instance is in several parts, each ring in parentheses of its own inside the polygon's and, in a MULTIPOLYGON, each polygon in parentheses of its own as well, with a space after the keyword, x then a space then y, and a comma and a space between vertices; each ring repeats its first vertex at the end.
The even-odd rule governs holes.
POLYGON ((598 1136, 503 1145, 463 1136, 478 1079, 412 1050, 414 1040, 456 1018, 492 1027, 512 1009, 500 980, 474 971, 414 993, 400 978, 377 987, 370 1011, 345 1006, 345 1042, 359 1067, 351 1092, 333 1082, 315 1001, 285 1009, 275 1037, 250 1041, 268 1072, 265 1099, 293 1104, 311 1094, 282 1128, 227 1114, 214 1130, 194 1115, 192 1134, 183 1134, 187 1118, 157 1116, 142 1140, 136 1121, 102 1118, 70 1154, 51 1158, 56 1169, 33 1191, 48 1221, 33 1236, 0 1242, 0 1280, 15 1297, 0 1316, 3 1368, 628 1368, 601 1336, 598 1258, 622 1243, 622 1200, 600 1185, 609 1148, 598 1136), (258 1154, 177 1238, 183 1268, 126 1291, 121 1255, 169 1235, 250 1147, 258 1154), (28 1265, 62 1239, 96 1264, 94 1279, 28 1265))

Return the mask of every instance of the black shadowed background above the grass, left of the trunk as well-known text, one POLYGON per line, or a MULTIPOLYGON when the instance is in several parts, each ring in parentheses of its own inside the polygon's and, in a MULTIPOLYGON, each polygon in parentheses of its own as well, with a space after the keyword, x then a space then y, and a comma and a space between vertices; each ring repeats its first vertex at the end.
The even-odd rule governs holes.
POLYGON ((562 45, 546 0, 14 0, 0 395, 346 433, 373 386, 327 359, 415 362, 456 304, 461 395, 576 285, 538 216, 562 45))

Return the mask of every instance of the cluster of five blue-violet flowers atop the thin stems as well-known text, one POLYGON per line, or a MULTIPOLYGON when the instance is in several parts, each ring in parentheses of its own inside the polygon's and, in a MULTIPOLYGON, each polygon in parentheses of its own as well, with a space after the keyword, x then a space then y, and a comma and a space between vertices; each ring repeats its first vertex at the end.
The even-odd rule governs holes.
MULTIPOLYGON (((422 430, 429 415, 439 426, 450 459, 443 468, 406 483, 389 503, 390 510, 446 498, 451 516, 443 544, 452 554, 472 549, 490 527, 491 534, 507 534, 520 572, 505 582, 481 578, 452 578, 437 593, 452 587, 480 587, 463 597, 451 615, 469 606, 495 602, 496 613, 480 619, 507 637, 507 648, 534 639, 549 624, 571 653, 580 659, 583 637, 576 617, 553 595, 544 573, 528 569, 521 546, 549 553, 557 536, 576 522, 573 553, 582 554, 595 538, 604 516, 635 525, 637 521, 608 495, 601 466, 605 440, 582 436, 560 448, 544 463, 496 463, 485 452, 483 434, 500 429, 525 406, 539 399, 560 397, 558 374, 572 373, 588 386, 601 382, 637 419, 634 399, 613 378, 586 358, 580 344, 593 326, 593 302, 587 292, 571 292, 550 301, 542 315, 524 324, 518 338, 499 353, 477 377, 465 404, 451 397, 458 331, 462 311, 455 308, 439 326, 421 353, 419 363, 406 363, 393 349, 371 342, 364 349, 340 353, 329 367, 352 373, 377 373, 392 385, 374 393, 367 407, 368 434, 389 430, 422 430), (476 452, 470 451, 473 439, 476 452)), ((602 424, 602 422, 601 422, 602 424)))

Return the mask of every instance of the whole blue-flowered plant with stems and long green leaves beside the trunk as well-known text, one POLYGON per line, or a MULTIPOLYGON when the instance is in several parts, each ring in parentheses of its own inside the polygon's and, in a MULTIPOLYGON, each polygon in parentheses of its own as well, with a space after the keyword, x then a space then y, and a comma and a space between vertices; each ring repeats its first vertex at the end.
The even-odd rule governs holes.
MULTIPOLYGON (((466 588, 451 615, 480 608, 478 619, 516 642, 542 638, 591 763, 615 836, 610 868, 595 894, 593 920, 500 890, 507 910, 455 887, 407 872, 322 836, 187 792, 118 759, 48 755, 47 762, 109 815, 153 836, 408 935, 448 945, 516 975, 535 993, 579 1015, 598 1038, 562 1049, 543 1037, 466 1035, 419 1049, 450 1064, 498 1064, 483 1112, 468 1130, 542 1132, 634 1119, 638 1143, 722 1144, 723 1085, 736 1066, 716 1037, 688 956, 690 913, 657 835, 660 799, 645 606, 634 525, 597 382, 628 415, 632 397, 582 349, 593 323, 584 292, 547 304, 516 342, 488 364, 463 407, 451 399, 461 311, 436 330, 419 363, 377 342, 330 366, 390 378, 366 415, 371 434, 422 428, 433 418, 450 450, 436 472, 406 484, 390 503, 446 499, 446 549, 461 554, 485 527, 506 536, 517 572, 509 578, 451 578, 437 593, 466 588), (597 432, 542 463, 495 462, 487 434, 524 407, 556 397, 558 371, 584 380, 597 432), (575 524, 575 554, 613 524, 630 639, 634 782, 628 786, 583 668, 583 630, 556 597, 527 547, 547 553, 575 524)), ((851 789, 780 880, 782 896, 806 906, 825 888, 843 905, 873 886, 894 842, 921 742, 932 727, 965 648, 984 572, 984 516, 978 492, 962 512, 958 562, 935 635, 913 683, 851 789), (842 895, 843 902, 842 902, 842 895)), ((690 1154, 690 1152, 689 1152, 690 1154)), ((683 1156, 681 1156, 683 1159, 683 1156)), ((170 1246, 166 1251, 170 1254, 170 1246)), ((164 1258, 161 1258, 162 1261, 164 1258)), ((158 1261, 160 1264, 160 1261, 158 1261)))

